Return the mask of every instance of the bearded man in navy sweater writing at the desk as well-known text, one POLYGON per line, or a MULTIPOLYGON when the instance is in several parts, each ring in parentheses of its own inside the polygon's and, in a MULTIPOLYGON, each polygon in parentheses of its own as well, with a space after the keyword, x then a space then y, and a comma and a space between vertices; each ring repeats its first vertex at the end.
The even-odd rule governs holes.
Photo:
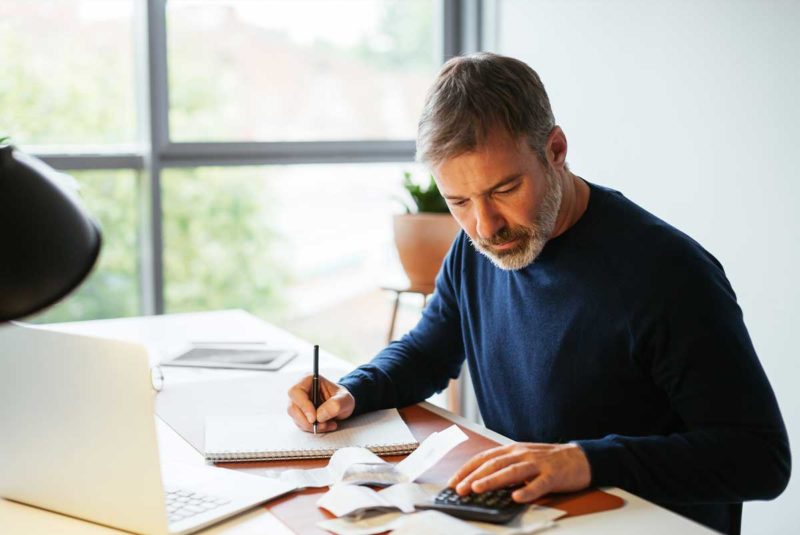
POLYGON ((466 360, 486 425, 519 443, 468 461, 459 494, 612 485, 736 533, 744 500, 783 491, 786 430, 722 266, 570 172, 533 70, 493 54, 447 62, 417 152, 464 232, 410 333, 323 381, 316 412, 310 380, 290 389, 299 427, 419 402, 466 360))

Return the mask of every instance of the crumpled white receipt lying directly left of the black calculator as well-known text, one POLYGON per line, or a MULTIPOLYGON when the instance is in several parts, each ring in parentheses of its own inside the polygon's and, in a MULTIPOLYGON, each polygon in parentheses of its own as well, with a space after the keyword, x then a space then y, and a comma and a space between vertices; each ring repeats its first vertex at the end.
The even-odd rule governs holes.
POLYGON ((438 490, 440 490, 438 485, 400 483, 376 492, 360 485, 338 484, 332 486, 317 501, 317 506, 327 509, 336 516, 380 509, 399 509, 403 513, 413 513, 414 504, 429 501, 438 490))

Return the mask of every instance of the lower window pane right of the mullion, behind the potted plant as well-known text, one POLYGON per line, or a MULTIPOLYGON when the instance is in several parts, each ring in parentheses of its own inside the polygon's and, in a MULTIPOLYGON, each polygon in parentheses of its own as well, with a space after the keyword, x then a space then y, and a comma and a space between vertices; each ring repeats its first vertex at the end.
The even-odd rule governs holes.
POLYGON ((166 171, 166 310, 245 308, 337 354, 368 359, 385 343, 390 315, 379 288, 402 276, 392 214, 403 171, 414 168, 166 171))

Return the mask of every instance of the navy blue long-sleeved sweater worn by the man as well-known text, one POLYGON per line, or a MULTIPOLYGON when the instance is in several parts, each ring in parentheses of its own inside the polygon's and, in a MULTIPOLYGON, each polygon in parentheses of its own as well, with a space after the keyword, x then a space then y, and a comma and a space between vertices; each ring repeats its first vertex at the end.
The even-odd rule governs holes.
POLYGON ((462 232, 419 324, 341 380, 356 412, 426 399, 466 359, 486 425, 579 444, 618 486, 723 532, 787 485, 786 430, 722 266, 591 185, 584 215, 503 271, 462 232))

